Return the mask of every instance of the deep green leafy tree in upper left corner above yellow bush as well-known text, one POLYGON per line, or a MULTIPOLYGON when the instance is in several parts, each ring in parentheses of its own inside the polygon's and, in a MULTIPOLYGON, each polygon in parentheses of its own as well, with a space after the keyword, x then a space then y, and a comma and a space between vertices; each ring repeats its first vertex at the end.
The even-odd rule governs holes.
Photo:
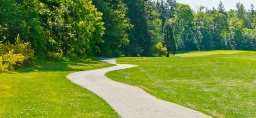
POLYGON ((26 11, 16 0, 0 0, 0 41, 14 43, 20 34, 20 39, 29 42, 37 52, 44 52, 44 31, 40 27, 38 13, 35 10, 26 11))

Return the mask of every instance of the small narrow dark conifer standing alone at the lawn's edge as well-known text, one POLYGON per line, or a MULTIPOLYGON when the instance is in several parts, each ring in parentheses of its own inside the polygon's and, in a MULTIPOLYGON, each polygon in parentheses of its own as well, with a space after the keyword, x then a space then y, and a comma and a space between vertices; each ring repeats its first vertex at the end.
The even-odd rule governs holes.
POLYGON ((174 35, 172 31, 172 25, 169 21, 166 21, 164 24, 164 46, 167 49, 166 57, 169 57, 170 54, 176 54, 176 44, 174 40, 174 35))

